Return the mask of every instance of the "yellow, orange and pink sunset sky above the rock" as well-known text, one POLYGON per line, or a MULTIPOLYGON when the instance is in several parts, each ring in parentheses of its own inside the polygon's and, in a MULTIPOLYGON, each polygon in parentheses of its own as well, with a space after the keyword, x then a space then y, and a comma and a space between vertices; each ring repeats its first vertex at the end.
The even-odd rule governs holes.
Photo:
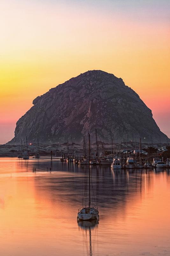
POLYGON ((0 3, 0 143, 32 100, 87 70, 121 77, 170 137, 169 1, 0 3))

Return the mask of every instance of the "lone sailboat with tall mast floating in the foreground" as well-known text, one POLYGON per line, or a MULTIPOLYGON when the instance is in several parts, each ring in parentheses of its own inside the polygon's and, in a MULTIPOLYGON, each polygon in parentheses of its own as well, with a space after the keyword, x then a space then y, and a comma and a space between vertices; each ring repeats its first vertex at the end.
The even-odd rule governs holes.
POLYGON ((96 207, 91 207, 90 201, 90 134, 89 134, 89 206, 83 207, 77 216, 77 220, 97 220, 99 218, 99 211, 96 207))

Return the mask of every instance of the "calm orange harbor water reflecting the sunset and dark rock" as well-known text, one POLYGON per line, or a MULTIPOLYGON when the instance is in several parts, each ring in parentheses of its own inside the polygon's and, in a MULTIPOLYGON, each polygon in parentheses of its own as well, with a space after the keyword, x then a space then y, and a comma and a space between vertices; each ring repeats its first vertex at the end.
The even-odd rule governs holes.
POLYGON ((93 167, 100 220, 78 225, 87 170, 0 158, 0 255, 170 255, 170 169, 93 167))

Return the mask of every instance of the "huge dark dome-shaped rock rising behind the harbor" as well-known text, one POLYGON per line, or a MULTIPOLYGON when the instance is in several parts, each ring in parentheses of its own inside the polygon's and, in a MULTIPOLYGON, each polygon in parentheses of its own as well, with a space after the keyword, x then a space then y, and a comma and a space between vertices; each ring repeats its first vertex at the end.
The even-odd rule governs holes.
POLYGON ((33 100, 33 106, 22 116, 10 144, 29 142, 76 143, 88 132, 98 130, 102 140, 115 141, 135 137, 148 142, 166 142, 152 118, 152 111, 121 78, 101 70, 85 72, 50 89, 33 100))

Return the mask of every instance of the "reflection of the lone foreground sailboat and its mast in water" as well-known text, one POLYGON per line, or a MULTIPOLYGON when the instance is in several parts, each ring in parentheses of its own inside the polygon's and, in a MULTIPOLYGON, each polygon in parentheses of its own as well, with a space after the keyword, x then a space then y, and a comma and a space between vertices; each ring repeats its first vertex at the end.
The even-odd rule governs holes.
POLYGON ((91 220, 91 221, 77 221, 78 226, 84 231, 85 230, 85 236, 83 242, 86 244, 87 248, 87 255, 92 256, 93 250, 92 250, 92 237, 91 237, 91 230, 98 227, 99 221, 98 220, 91 220), (89 230, 89 242, 88 242, 88 230, 89 230), (89 244, 89 249, 88 249, 89 244))

